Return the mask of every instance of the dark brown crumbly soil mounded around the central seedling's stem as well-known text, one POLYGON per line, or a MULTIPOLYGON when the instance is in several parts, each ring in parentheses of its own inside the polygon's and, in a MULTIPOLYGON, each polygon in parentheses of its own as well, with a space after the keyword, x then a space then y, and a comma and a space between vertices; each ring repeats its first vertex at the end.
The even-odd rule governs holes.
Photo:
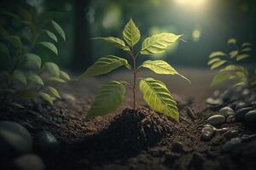
POLYGON ((62 99, 54 106, 29 102, 22 110, 1 105, 0 120, 19 122, 32 136, 41 130, 53 133, 61 142, 61 149, 40 155, 50 170, 255 169, 255 127, 242 122, 218 127, 235 128, 243 139, 242 145, 231 152, 222 150, 228 141, 225 131, 215 133, 209 141, 201 140, 201 128, 207 117, 216 113, 205 105, 205 96, 212 93, 208 86, 202 89, 195 84, 196 95, 187 91, 186 96, 190 97, 186 98, 181 97, 183 86, 178 94, 173 94, 183 117, 180 123, 151 111, 141 96, 137 96, 137 105, 142 106, 136 111, 129 109, 129 94, 113 114, 84 120, 98 88, 96 84, 100 86, 105 81, 103 77, 61 86, 62 99), (200 94, 201 91, 205 94, 200 94), (194 117, 188 114, 188 108, 194 117))

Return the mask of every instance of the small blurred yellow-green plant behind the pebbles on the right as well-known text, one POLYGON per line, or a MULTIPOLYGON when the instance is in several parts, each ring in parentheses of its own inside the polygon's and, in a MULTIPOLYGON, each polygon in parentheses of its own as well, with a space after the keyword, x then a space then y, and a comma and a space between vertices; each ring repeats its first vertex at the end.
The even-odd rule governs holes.
MULTIPOLYGON (((209 55, 208 65, 211 70, 222 67, 218 74, 213 77, 211 86, 227 80, 233 81, 234 87, 241 85, 255 86, 256 76, 251 79, 247 69, 240 64, 241 60, 251 56, 249 52, 252 51, 252 44, 244 42, 239 47, 235 38, 231 38, 227 43, 232 45, 233 48, 230 53, 215 51, 209 55)), ((256 70, 254 72, 256 75, 256 70)))

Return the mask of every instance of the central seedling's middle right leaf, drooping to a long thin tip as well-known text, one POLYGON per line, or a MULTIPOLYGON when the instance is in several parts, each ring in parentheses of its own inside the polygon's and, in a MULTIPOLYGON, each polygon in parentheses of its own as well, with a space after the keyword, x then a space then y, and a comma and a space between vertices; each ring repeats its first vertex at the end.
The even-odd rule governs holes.
MULTIPOLYGON (((163 60, 147 60, 147 61, 144 61, 143 64, 139 66, 139 68, 140 67, 148 68, 157 74, 178 75, 180 77, 183 77, 171 65, 169 65, 168 63, 166 63, 166 61, 163 61, 163 60)), ((183 77, 183 78, 189 81, 188 78, 186 77, 183 77)))

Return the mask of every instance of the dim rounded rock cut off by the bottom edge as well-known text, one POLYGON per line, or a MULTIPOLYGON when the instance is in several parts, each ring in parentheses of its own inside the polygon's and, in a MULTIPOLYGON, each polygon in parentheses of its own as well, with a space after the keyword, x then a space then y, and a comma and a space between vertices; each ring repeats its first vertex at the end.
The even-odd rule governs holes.
POLYGON ((13 161, 12 168, 15 170, 44 170, 44 162, 34 154, 20 156, 13 161))

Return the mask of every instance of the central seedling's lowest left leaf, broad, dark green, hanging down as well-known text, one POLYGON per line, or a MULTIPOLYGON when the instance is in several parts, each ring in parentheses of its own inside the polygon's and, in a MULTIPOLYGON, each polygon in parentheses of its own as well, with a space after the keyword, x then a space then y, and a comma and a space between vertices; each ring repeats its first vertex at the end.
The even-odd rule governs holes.
POLYGON ((125 85, 122 82, 108 82, 103 85, 87 113, 87 118, 102 116, 118 109, 125 98, 125 85))

